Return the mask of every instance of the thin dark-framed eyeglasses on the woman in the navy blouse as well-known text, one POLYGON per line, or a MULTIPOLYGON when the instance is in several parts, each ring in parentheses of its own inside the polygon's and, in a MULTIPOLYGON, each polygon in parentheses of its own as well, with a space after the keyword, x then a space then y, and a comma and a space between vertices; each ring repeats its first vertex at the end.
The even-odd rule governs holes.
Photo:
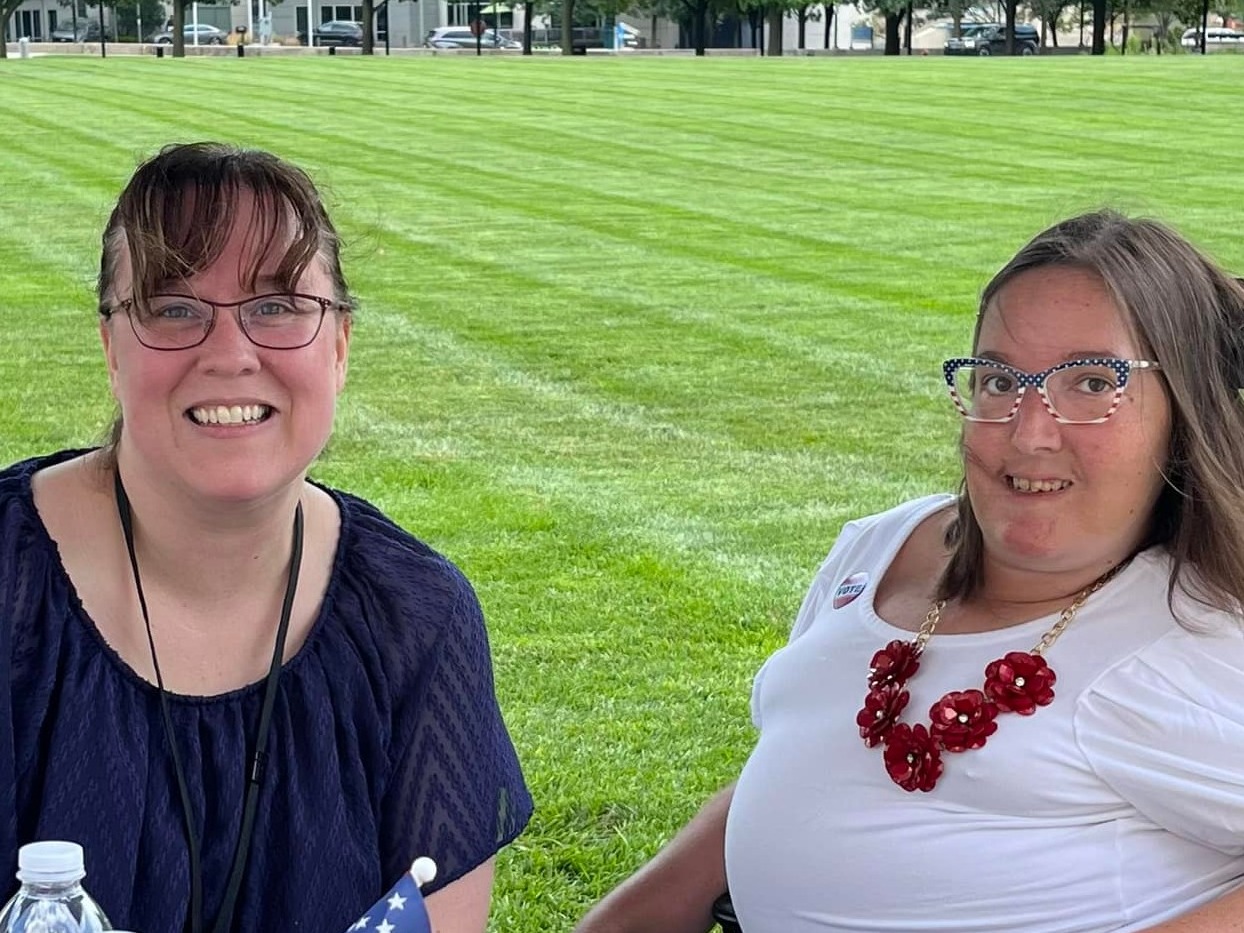
POLYGON ((149 350, 189 350, 211 333, 220 309, 238 309, 238 325, 256 347, 300 350, 311 343, 330 309, 348 311, 350 305, 320 295, 274 292, 244 301, 208 301, 195 295, 152 295, 142 302, 133 297, 101 305, 104 318, 123 311, 138 342, 149 350))

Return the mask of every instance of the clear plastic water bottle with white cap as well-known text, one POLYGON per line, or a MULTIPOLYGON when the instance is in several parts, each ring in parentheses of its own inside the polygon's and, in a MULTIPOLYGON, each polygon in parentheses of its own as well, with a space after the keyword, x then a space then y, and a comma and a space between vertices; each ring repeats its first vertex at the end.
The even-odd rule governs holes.
POLYGON ((17 850, 21 888, 0 911, 0 933, 101 933, 108 918, 82 889, 77 842, 31 842, 17 850))

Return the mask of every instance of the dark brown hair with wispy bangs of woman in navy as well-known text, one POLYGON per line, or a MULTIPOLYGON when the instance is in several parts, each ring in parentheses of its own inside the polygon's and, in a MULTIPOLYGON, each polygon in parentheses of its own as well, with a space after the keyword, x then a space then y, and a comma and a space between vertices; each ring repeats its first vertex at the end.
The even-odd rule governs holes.
MULTIPOLYGON (((122 243, 127 246, 132 294, 137 302, 208 269, 220 256, 233 230, 239 198, 255 199, 245 231, 254 245, 248 287, 264 264, 279 254, 276 280, 295 291, 316 260, 332 280, 333 297, 353 307, 341 271, 341 238, 328 219, 320 193, 302 169, 259 149, 225 143, 165 146, 131 177, 103 230, 97 295, 107 315, 114 294, 122 243)), ((109 453, 121 437, 121 418, 106 444, 109 453)))

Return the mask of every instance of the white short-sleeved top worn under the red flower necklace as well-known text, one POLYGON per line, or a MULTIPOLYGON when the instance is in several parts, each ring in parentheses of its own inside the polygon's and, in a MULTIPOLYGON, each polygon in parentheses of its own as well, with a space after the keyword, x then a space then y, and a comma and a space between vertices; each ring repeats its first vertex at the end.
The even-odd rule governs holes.
MULTIPOLYGON (((948 496, 851 522, 790 643, 756 675, 760 739, 735 789, 725 858, 745 933, 1141 931, 1244 877, 1244 628, 1182 597, 1169 560, 1138 555, 1045 657, 1055 699, 1003 713, 983 749, 942 753, 931 792, 891 781, 855 718, 873 653, 911 632, 877 583, 948 496)), ((1029 651, 1057 613, 937 636, 902 722, 1029 651)))

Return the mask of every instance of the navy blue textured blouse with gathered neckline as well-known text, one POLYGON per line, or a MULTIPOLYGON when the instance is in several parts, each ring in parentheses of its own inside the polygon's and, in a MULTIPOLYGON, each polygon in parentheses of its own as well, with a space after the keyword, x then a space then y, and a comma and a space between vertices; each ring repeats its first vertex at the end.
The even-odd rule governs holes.
MULTIPOLYGON (((113 926, 175 933, 189 902, 182 804, 156 688, 103 641, 35 511, 0 471, 0 892, 17 847, 86 848, 113 926)), ((340 933, 418 856, 425 893, 510 842, 531 797, 465 577, 367 503, 330 490, 341 537, 323 605, 285 664, 235 933, 340 933)), ((170 697, 203 836, 204 914, 224 896, 262 683, 170 697)))

